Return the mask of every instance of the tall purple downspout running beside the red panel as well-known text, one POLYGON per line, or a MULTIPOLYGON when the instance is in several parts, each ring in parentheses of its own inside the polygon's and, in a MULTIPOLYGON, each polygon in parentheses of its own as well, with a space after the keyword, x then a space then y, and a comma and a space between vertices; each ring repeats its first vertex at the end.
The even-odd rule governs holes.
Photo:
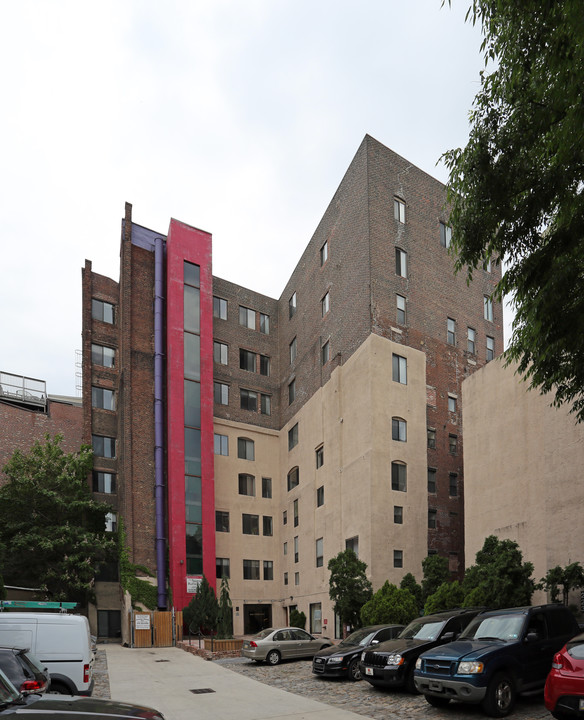
POLYGON ((164 537, 164 244, 154 241, 154 502, 156 509, 156 581, 158 607, 167 605, 164 537))

